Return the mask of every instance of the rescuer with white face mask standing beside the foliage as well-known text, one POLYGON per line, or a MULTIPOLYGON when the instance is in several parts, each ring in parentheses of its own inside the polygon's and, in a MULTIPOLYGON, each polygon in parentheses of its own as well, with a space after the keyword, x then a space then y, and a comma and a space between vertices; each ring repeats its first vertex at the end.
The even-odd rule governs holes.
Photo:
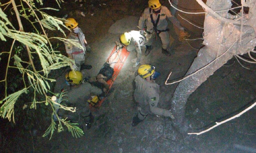
POLYGON ((83 47, 83 49, 81 49, 67 41, 65 42, 65 49, 68 57, 75 61, 75 64, 72 65, 73 69, 75 71, 80 71, 80 69, 91 69, 92 66, 84 64, 86 51, 89 51, 90 47, 85 40, 82 30, 78 27, 77 21, 74 18, 68 18, 65 25, 71 29, 67 39, 76 40, 83 47))

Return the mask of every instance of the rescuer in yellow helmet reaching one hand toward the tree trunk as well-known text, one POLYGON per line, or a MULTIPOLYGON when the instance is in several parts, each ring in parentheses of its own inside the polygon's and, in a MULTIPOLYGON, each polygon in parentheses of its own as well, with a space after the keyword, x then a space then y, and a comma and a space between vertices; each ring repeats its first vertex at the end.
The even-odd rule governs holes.
POLYGON ((160 73, 155 71, 154 66, 144 64, 138 68, 138 74, 135 78, 136 89, 134 91, 134 99, 138 103, 138 112, 133 117, 132 126, 142 122, 149 113, 173 118, 169 110, 157 107, 160 87, 155 79, 160 73))

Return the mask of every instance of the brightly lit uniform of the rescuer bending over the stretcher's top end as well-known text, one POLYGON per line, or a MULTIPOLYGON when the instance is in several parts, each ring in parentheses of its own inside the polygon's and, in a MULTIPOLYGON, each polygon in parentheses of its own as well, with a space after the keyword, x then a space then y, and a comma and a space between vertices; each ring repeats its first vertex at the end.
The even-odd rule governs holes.
POLYGON ((128 32, 131 35, 131 43, 126 47, 127 51, 131 52, 136 50, 137 52, 137 62, 141 60, 141 47, 146 45, 146 37, 143 34, 143 31, 130 31, 128 32))

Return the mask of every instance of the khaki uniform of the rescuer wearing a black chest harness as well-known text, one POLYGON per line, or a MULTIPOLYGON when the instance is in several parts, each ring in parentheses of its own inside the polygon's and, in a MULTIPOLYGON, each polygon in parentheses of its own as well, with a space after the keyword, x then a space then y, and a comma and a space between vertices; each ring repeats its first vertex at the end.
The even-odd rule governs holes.
POLYGON ((151 8, 146 8, 140 17, 139 20, 139 27, 140 29, 144 28, 144 23, 146 23, 147 26, 147 33, 146 33, 146 42, 147 45, 152 45, 153 42, 153 35, 155 32, 154 25, 151 21, 151 15, 154 20, 154 23, 157 22, 157 18, 159 18, 159 21, 156 25, 156 32, 159 33, 159 37, 162 41, 162 48, 167 49, 169 47, 169 33, 167 30, 168 22, 167 19, 170 20, 174 25, 176 25, 179 29, 183 29, 183 27, 180 25, 179 21, 176 17, 174 17, 171 12, 168 10, 167 7, 161 6, 161 11, 159 14, 155 14, 151 8), (159 17, 158 17, 159 16, 159 17))

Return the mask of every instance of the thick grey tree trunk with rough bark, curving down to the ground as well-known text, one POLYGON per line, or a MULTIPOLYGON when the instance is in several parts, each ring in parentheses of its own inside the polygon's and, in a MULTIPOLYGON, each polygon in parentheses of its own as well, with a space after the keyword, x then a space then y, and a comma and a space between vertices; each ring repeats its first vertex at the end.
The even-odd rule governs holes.
MULTIPOLYGON (((225 10, 231 7, 231 0, 207 0, 206 4, 214 11, 225 10)), ((255 9, 250 10, 254 10, 254 12, 252 12, 254 14, 250 15, 253 19, 255 18, 255 9)), ((218 12, 218 14, 229 19, 235 18, 235 16, 228 13, 228 10, 218 12)), ((256 44, 254 28, 255 27, 250 24, 243 25, 240 43, 241 25, 230 23, 228 21, 220 21, 211 13, 205 15, 203 42, 205 46, 198 52, 197 57, 194 59, 186 75, 208 65, 217 57, 218 59, 206 68, 178 84, 172 98, 171 109, 175 117, 175 126, 183 126, 187 99, 198 86, 200 86, 210 75, 231 59, 233 55, 242 55, 254 49, 256 44)))

